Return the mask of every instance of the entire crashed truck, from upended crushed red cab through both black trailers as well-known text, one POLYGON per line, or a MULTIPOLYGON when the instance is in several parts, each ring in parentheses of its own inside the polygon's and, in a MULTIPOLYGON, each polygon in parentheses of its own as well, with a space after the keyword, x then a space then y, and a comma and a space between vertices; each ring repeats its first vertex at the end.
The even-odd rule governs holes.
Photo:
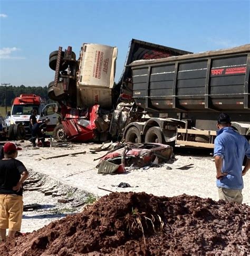
POLYGON ((57 140, 213 148, 222 111, 249 139, 250 44, 193 54, 133 39, 117 84, 116 59, 116 47, 88 43, 78 60, 71 46, 50 54, 57 140))

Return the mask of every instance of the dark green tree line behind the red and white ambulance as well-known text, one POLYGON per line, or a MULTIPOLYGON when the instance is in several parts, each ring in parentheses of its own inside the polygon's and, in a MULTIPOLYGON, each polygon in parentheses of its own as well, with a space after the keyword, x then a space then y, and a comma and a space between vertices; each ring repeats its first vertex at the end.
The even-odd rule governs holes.
POLYGON ((0 86, 0 106, 4 107, 5 102, 7 102, 7 106, 11 106, 14 98, 20 96, 21 94, 32 93, 41 96, 45 99, 46 102, 50 102, 49 97, 47 96, 47 87, 42 86, 7 86, 6 88, 6 99, 5 99, 5 86, 0 86))

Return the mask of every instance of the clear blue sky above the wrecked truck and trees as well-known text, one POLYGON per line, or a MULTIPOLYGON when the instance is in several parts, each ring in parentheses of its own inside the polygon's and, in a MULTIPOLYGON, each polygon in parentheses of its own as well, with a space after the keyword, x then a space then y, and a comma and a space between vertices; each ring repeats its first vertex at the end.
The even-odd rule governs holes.
POLYGON ((49 54, 82 43, 118 47, 119 80, 132 38, 190 52, 250 43, 250 0, 0 0, 0 81, 47 86, 49 54))

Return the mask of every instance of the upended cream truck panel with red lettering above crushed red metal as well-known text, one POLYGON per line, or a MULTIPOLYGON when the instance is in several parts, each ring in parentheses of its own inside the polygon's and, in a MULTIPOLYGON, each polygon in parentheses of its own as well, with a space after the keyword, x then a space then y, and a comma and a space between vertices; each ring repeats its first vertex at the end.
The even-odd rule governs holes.
POLYGON ((77 83, 78 106, 98 104, 103 108, 111 107, 116 59, 116 47, 83 44, 77 83))

